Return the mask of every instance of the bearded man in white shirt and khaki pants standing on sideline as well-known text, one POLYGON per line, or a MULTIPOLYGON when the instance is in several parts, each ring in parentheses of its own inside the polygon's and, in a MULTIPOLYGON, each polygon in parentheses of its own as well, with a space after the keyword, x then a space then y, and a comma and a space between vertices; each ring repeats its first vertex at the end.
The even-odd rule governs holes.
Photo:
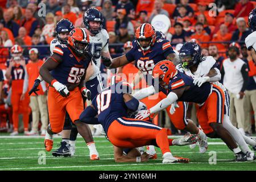
POLYGON ((245 134, 245 111, 243 103, 249 77, 247 65, 238 57, 239 55, 239 44, 230 44, 228 48, 229 58, 223 61, 221 77, 230 96, 230 121, 245 134))

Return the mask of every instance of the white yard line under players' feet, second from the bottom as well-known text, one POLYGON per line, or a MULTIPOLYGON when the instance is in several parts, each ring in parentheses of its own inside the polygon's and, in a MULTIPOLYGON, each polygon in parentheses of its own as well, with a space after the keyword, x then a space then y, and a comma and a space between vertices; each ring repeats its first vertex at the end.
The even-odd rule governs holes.
MULTIPOLYGON (((199 152, 172 152, 172 154, 197 154, 199 152)), ((209 153, 209 152, 205 152, 209 153)), ((217 153, 233 153, 232 151, 217 151, 217 153)), ((156 154, 162 155, 162 153, 157 152, 156 154)), ((101 154, 100 156, 113 156, 114 154, 101 154)), ((72 158, 76 157, 89 157, 89 155, 75 155, 72 156, 72 158)), ((39 156, 24 156, 24 157, 10 157, 10 158, 0 158, 0 160, 6 160, 6 159, 32 159, 32 158, 38 158, 39 156)), ((47 159, 63 159, 62 157, 60 158, 55 158, 53 156, 46 156, 47 159)))

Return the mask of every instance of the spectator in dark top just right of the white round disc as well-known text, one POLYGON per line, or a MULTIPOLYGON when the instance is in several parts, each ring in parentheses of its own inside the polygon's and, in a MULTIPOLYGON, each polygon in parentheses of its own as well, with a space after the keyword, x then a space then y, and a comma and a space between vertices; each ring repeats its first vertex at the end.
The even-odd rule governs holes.
POLYGON ((183 30, 183 24, 176 22, 174 24, 175 34, 172 35, 171 42, 172 44, 184 43, 187 39, 187 32, 183 30))

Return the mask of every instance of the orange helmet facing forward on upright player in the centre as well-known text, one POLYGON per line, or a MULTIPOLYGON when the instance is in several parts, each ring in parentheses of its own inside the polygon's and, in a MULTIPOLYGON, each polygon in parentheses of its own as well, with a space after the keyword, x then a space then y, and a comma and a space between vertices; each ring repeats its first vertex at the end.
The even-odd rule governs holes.
POLYGON ((139 26, 135 32, 135 39, 142 51, 148 51, 151 46, 155 44, 155 30, 149 23, 143 23, 139 26), (145 42, 149 42, 146 44, 145 42))

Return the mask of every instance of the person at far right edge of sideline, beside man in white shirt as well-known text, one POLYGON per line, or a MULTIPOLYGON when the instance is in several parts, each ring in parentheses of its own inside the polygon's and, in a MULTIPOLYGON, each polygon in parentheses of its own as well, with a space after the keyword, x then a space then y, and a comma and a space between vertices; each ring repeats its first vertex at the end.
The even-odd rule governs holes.
MULTIPOLYGON (((247 48, 243 47, 243 52, 246 53, 247 48)), ((242 51, 241 51, 242 52, 242 51)), ((242 52, 242 54, 243 54, 242 52)), ((250 53, 250 51, 248 51, 250 53)), ((244 55, 243 57, 246 57, 244 55)), ((251 109, 254 111, 254 121, 256 121, 256 63, 253 60, 245 60, 249 68, 249 81, 245 90, 245 133, 251 134, 255 131, 251 131, 251 109)), ((254 123, 255 124, 255 123, 254 123)))

